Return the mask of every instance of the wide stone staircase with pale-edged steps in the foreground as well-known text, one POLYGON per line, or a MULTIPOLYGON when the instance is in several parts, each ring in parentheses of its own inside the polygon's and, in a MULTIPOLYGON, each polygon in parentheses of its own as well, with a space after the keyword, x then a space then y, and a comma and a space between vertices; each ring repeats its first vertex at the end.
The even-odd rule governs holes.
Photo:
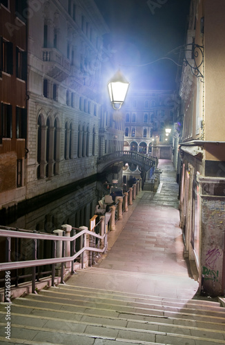
POLYGON ((13 299, 10 339, 1 303, 0 344, 225 344, 219 302, 75 286, 75 280, 13 299))

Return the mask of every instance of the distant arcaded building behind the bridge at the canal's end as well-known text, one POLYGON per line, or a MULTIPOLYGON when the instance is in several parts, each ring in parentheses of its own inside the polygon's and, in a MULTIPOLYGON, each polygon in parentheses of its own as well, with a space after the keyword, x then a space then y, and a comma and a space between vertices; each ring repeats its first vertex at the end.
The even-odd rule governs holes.
MULTIPOLYGON (((173 128, 173 92, 170 90, 130 90, 124 105, 124 150, 170 159, 173 128)), ((149 172, 150 178, 153 171, 149 172)), ((134 164, 124 166, 124 183, 139 178, 141 170, 134 164)), ((143 178, 143 176, 141 175, 143 178)), ((144 178, 145 179, 145 178, 144 178)))

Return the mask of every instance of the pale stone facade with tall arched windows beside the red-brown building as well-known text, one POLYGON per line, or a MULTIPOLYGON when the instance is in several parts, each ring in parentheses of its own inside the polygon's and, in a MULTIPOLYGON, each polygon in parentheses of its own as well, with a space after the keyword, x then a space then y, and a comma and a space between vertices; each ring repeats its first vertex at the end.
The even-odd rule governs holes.
POLYGON ((26 197, 95 175, 102 36, 94 1, 42 1, 28 32, 26 197))

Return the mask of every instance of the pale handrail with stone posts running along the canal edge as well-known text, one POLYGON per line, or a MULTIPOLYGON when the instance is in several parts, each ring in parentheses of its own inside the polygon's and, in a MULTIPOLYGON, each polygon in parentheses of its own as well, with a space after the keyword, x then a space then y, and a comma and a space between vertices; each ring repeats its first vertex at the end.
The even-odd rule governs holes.
MULTIPOLYGON (((95 262, 97 253, 104 253, 108 246, 108 231, 115 230, 115 223, 122 219, 123 213, 128 211, 128 207, 133 204, 133 199, 141 190, 141 180, 138 180, 133 187, 122 197, 122 202, 118 201, 107 215, 101 217, 92 231, 86 226, 73 228, 68 224, 61 226, 63 230, 54 230, 53 234, 37 233, 37 231, 24 230, 19 228, 10 228, 0 226, 0 243, 2 248, 1 258, 6 260, 0 262, 0 282, 5 282, 3 273, 10 277, 10 284, 4 286, 4 301, 10 299, 8 290, 11 286, 19 288, 19 281, 32 279, 32 293, 36 292, 36 282, 39 282, 43 275, 51 276, 51 284, 55 284, 56 269, 60 271, 60 279, 68 268, 68 272, 75 273, 75 260, 79 260, 81 268, 91 266, 95 262), (117 208, 117 215, 115 215, 117 208), (106 224, 107 223, 107 224, 106 224), (57 234, 57 235, 56 235, 57 234), (66 235, 65 235, 66 234, 66 235), (5 247, 5 250, 3 249, 5 247), (44 253, 43 248, 48 248, 44 253), (48 270, 41 270, 39 268, 48 270), (26 273, 24 275, 24 269, 26 273)), ((7 280, 8 282, 8 280, 7 280)), ((29 284, 29 282, 27 282, 29 284)))

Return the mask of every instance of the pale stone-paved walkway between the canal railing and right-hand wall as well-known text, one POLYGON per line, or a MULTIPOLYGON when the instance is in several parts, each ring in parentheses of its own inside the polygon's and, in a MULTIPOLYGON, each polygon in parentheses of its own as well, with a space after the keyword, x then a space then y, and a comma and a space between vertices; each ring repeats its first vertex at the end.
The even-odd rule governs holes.
POLYGON ((108 253, 68 284, 129 293, 193 298, 198 283, 188 275, 179 228, 178 185, 173 163, 159 160, 157 193, 142 191, 108 235, 108 253), (107 276, 107 279, 106 279, 107 276), (104 279, 105 277, 105 279, 104 279))

